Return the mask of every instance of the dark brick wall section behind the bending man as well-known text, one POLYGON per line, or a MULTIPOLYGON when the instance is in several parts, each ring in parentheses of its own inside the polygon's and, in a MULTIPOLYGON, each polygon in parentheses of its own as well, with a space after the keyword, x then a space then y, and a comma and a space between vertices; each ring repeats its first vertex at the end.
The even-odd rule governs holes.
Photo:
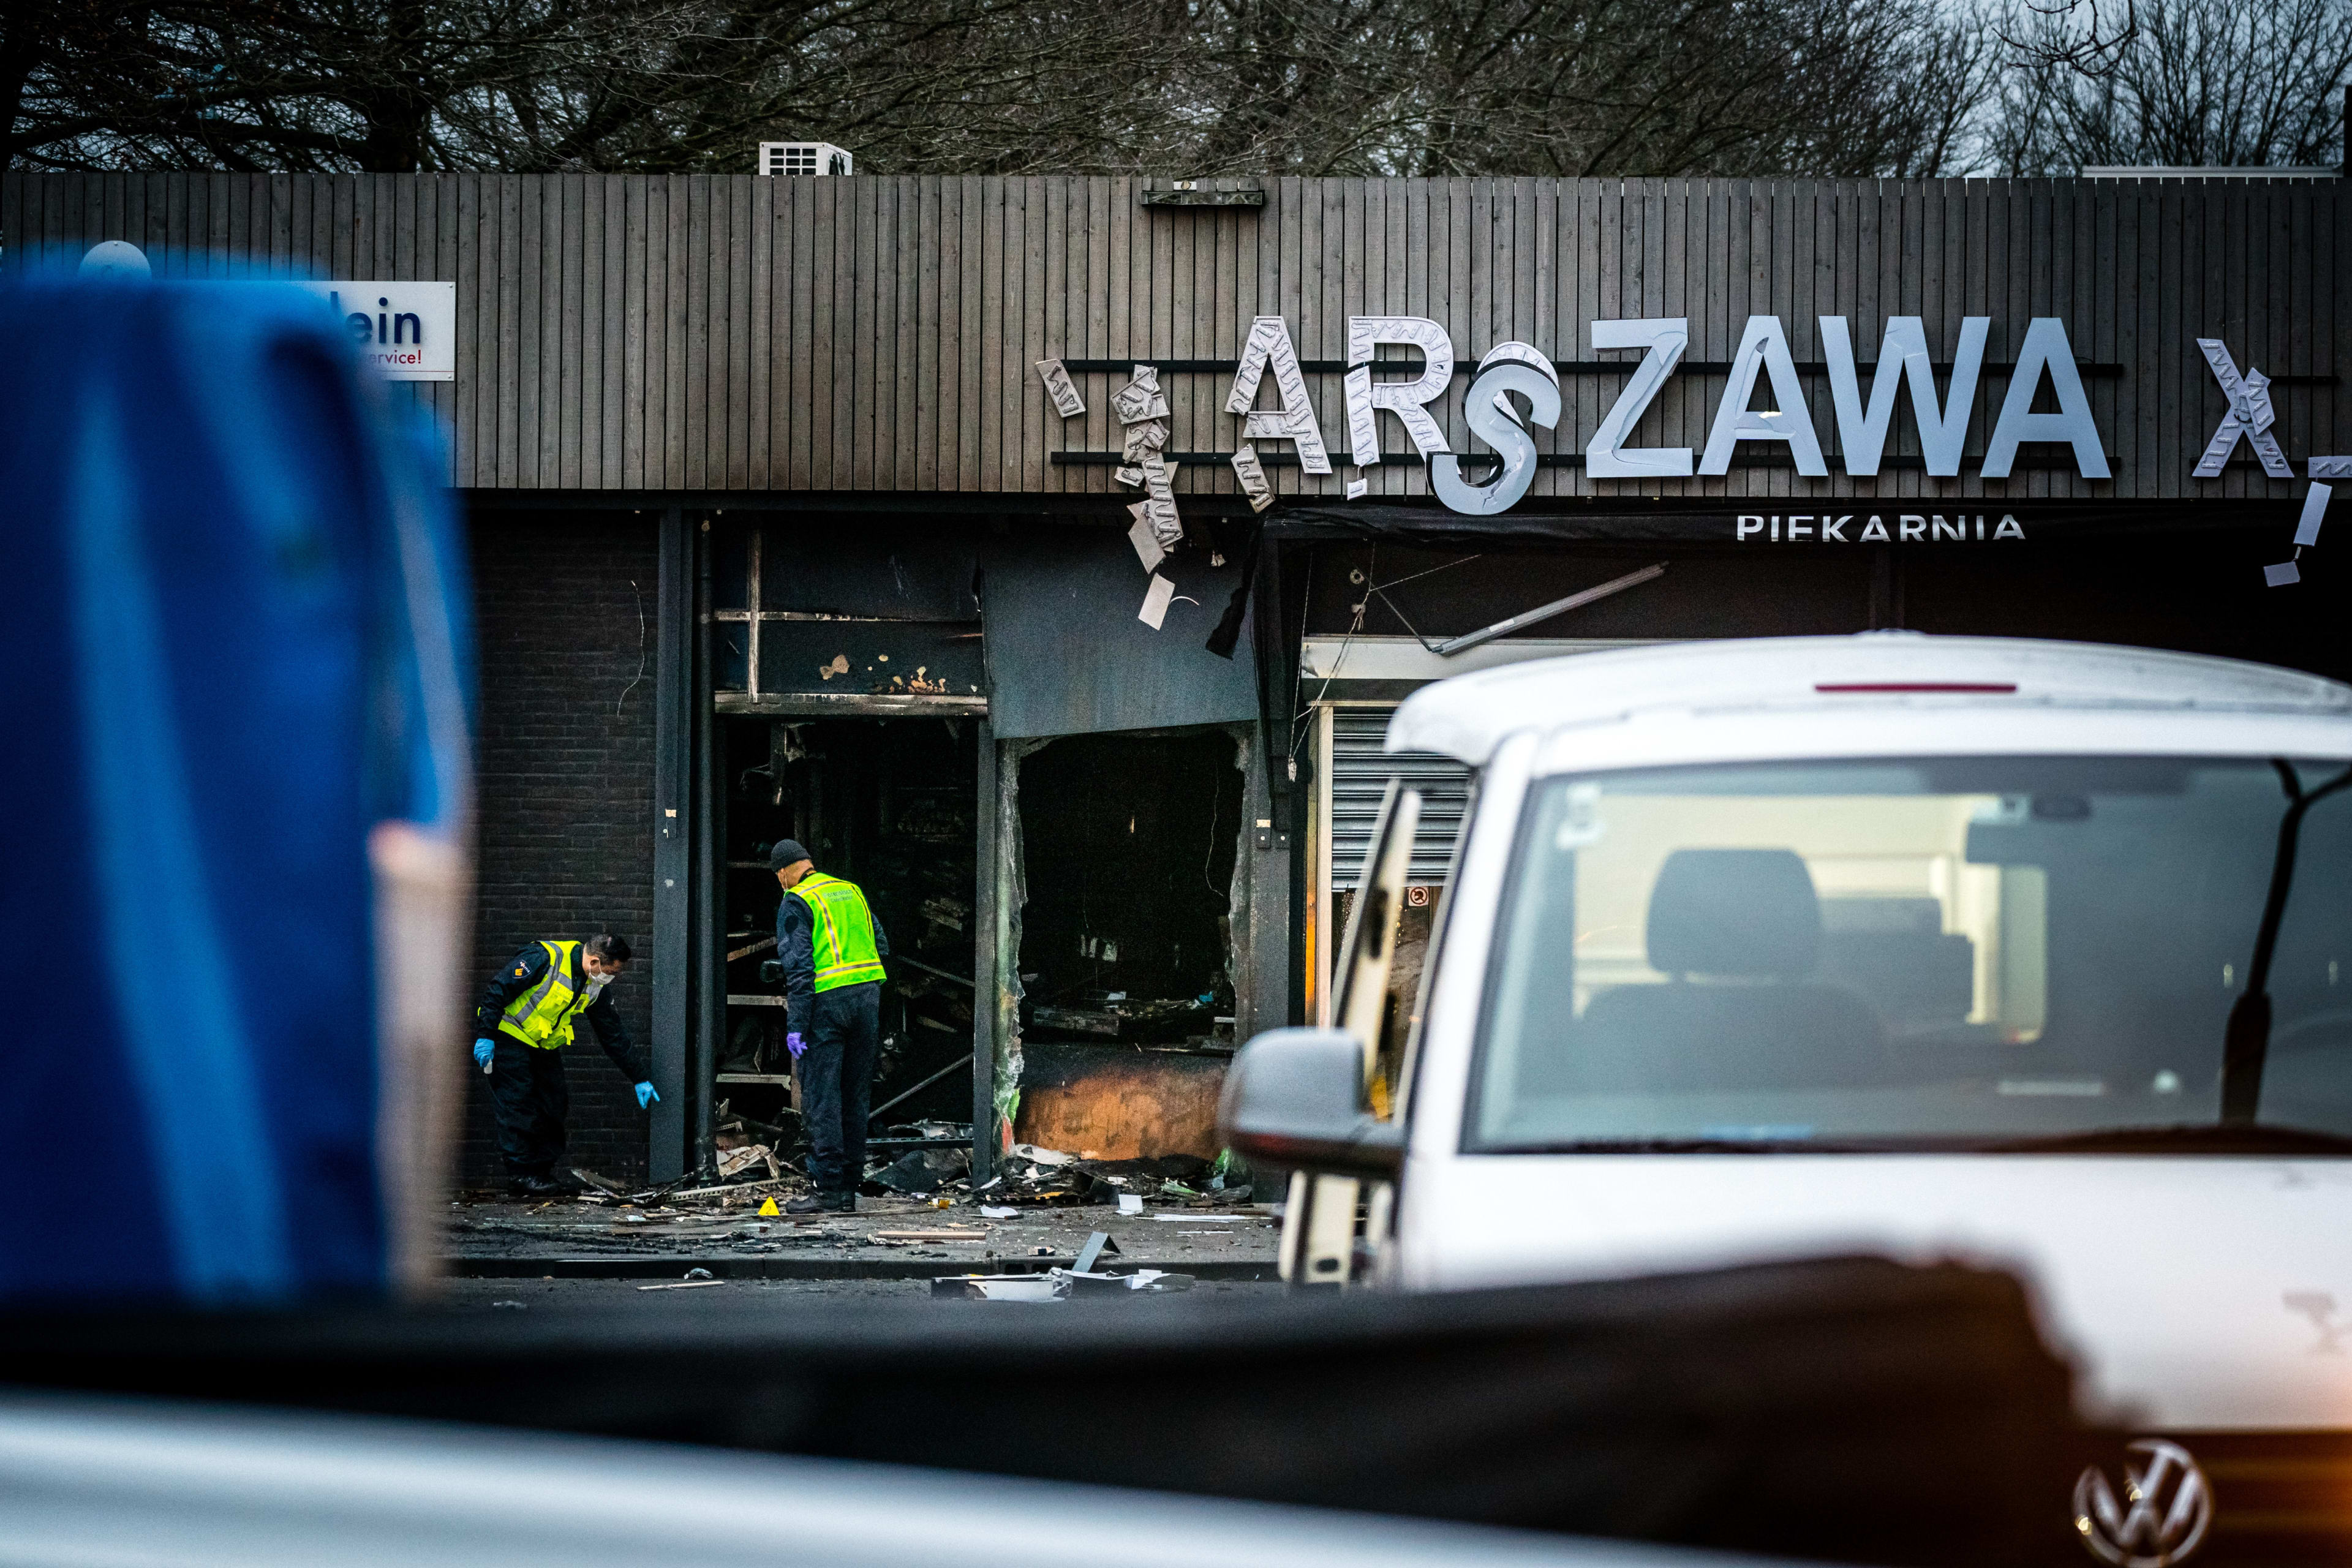
MULTIPOLYGON (((524 943, 619 931, 635 961, 612 997, 640 1046, 652 1030, 656 522, 654 512, 473 517, 482 639, 473 994, 524 943)), ((593 1032, 583 1027, 564 1053, 572 1164, 644 1175, 644 1112, 593 1032)), ((461 1178, 480 1182, 499 1175, 492 1107, 470 1058, 463 1070, 461 1178)))

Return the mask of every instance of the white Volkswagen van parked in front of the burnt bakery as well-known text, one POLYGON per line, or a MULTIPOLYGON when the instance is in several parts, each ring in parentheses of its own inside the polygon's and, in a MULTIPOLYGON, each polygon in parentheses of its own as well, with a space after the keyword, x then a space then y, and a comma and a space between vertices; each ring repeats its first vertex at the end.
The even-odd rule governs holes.
MULTIPOLYGON (((2086 1476, 2107 1561, 2204 1535, 2180 1434, 2352 1434, 2352 689, 1710 642, 1449 679, 1388 748, 1477 769, 1418 1004, 1383 1006, 1392 792, 1343 1027, 1263 1034, 1228 1079, 1237 1150, 1329 1173, 1294 1185, 1301 1276, 2016 1267, 2093 1418, 2171 1434, 2112 1497, 2086 1476)), ((2296 1462, 2333 1467, 2307 1479, 2345 1528, 2352 1446, 2326 1455, 2296 1462)))

